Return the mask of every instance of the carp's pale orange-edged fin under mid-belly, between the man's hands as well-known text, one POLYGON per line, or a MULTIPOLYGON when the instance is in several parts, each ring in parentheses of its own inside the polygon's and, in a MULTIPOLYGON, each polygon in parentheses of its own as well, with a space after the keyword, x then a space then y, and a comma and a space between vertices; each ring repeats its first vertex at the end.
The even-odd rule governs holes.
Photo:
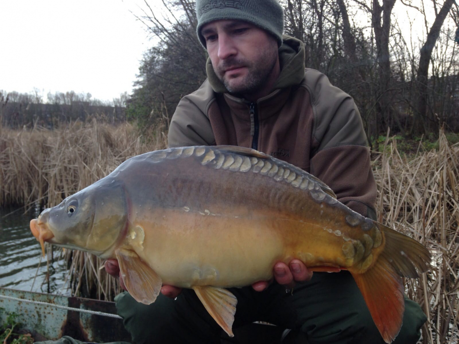
POLYGON ((195 286, 193 290, 217 324, 230 337, 234 337, 231 328, 234 322, 234 313, 236 313, 236 297, 226 289, 212 286, 195 286))

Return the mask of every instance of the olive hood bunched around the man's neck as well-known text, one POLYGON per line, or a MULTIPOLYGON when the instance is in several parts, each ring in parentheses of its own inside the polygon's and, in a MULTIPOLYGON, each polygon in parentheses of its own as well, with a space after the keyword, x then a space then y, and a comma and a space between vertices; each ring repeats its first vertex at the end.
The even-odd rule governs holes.
MULTIPOLYGON (((284 35, 283 43, 279 47, 279 62, 281 72, 272 91, 299 84, 305 73, 305 48, 304 43, 296 38, 284 35)), ((229 93, 220 79, 215 74, 210 58, 206 63, 207 76, 214 92, 229 93)))

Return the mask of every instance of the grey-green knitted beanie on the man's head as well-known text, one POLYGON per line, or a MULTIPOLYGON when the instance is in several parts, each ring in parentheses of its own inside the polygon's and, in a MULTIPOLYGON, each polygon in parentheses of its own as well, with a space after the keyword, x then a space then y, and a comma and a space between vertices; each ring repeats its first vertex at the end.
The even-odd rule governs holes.
POLYGON ((196 17, 196 33, 204 47, 201 28, 211 21, 226 19, 248 21, 271 33, 278 46, 282 44, 284 10, 278 0, 196 0, 196 17))

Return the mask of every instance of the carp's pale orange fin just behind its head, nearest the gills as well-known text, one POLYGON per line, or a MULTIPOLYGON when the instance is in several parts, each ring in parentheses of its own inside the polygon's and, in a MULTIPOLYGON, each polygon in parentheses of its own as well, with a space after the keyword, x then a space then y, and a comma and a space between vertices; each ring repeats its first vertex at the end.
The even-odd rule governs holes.
POLYGON ((119 249, 115 254, 129 294, 142 304, 155 302, 163 284, 161 277, 134 251, 119 249))

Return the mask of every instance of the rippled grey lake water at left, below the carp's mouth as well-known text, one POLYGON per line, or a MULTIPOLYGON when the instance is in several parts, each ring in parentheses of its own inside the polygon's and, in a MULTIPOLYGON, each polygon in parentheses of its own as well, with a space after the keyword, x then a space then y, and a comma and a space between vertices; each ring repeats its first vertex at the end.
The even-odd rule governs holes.
POLYGON ((26 213, 24 208, 0 208, 0 287, 68 295, 61 249, 53 248, 54 259, 47 266, 47 257, 42 257, 40 244, 30 232, 30 220, 40 211, 38 207, 26 213))

